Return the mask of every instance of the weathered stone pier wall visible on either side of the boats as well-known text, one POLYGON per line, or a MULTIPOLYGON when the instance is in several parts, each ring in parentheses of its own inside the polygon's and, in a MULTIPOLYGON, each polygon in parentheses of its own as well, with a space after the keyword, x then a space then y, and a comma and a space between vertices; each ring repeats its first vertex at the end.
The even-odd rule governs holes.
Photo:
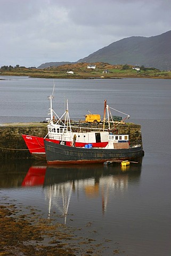
MULTIPOLYGON (((129 134, 131 144, 142 144, 141 125, 119 124, 118 134, 129 134)), ((14 123, 0 125, 0 161, 14 158, 32 158, 22 134, 45 137, 46 123, 14 123)))

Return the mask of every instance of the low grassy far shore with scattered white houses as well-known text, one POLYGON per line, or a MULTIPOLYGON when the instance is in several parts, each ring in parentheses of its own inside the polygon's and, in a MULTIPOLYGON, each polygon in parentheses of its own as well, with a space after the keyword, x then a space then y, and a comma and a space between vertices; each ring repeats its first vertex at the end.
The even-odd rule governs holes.
POLYGON ((52 66, 44 69, 25 68, 19 65, 3 66, 0 69, 0 79, 2 76, 30 76, 41 78, 122 78, 122 77, 145 77, 145 78, 171 78, 170 71, 160 71, 156 68, 140 67, 140 71, 133 69, 131 65, 110 65, 109 63, 96 62, 95 69, 88 69, 89 63, 72 63, 52 66), (104 71, 105 70, 105 71, 104 71), (73 71, 74 74, 67 74, 67 71, 73 71), (104 73, 106 72, 106 73, 104 73))

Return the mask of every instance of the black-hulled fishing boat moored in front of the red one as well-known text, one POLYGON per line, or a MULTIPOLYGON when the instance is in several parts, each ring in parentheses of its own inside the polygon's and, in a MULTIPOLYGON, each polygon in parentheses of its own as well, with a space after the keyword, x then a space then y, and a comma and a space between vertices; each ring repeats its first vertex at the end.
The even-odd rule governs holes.
POLYGON ((47 164, 95 164, 106 161, 135 160, 143 155, 142 145, 130 146, 129 142, 116 142, 116 135, 108 135, 105 148, 69 147, 54 141, 44 140, 47 164))

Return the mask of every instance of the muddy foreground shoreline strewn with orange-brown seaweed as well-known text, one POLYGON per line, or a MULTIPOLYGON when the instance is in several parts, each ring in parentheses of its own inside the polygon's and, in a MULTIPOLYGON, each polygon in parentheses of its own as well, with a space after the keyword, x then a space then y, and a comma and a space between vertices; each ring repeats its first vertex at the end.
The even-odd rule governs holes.
MULTIPOLYGON (((75 256, 75 255, 115 255, 119 254, 118 244, 104 239, 85 237, 85 230, 92 231, 92 223, 85 227, 73 228, 45 219, 42 213, 31 206, 10 203, 2 197, 0 202, 0 256, 75 256), (110 253, 105 254, 110 247, 110 253)), ((125 254, 126 255, 126 254, 125 254)))

